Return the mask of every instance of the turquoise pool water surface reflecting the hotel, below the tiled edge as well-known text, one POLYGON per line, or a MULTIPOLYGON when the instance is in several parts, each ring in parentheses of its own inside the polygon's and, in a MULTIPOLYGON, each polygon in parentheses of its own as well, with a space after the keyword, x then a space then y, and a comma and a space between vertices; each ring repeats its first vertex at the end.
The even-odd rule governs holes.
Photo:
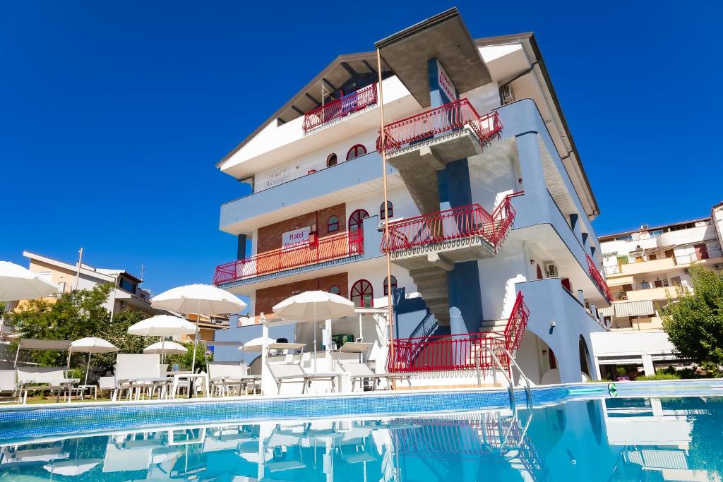
POLYGON ((723 399, 186 426, 1 447, 12 481, 720 481, 723 399))

